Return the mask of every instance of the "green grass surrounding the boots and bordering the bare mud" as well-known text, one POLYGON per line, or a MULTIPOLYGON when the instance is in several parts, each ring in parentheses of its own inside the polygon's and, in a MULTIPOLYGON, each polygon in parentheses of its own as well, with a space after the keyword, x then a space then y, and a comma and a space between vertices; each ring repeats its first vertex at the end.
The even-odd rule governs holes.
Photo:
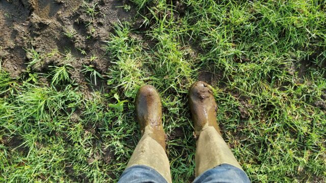
MULTIPOLYGON (((117 181, 140 138, 134 97, 152 84, 172 178, 191 182, 187 92, 199 78, 212 83, 223 137, 253 182, 326 181, 326 2, 132 2, 143 27, 118 21, 104 41, 106 93, 83 93, 70 54, 45 73, 50 86, 32 82, 42 76, 33 67, 32 79, 1 70, 0 181, 117 181)), ((101 76, 77 71, 90 84, 101 76)))

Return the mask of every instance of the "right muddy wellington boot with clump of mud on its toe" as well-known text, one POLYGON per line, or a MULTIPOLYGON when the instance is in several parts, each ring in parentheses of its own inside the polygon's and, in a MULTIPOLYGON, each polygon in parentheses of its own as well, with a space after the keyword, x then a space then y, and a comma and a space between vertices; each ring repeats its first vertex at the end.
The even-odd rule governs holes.
POLYGON ((189 89, 189 105, 193 115, 196 142, 196 177, 204 171, 230 164, 241 169, 228 145, 221 136, 216 122, 218 109, 211 86, 195 82, 189 89))

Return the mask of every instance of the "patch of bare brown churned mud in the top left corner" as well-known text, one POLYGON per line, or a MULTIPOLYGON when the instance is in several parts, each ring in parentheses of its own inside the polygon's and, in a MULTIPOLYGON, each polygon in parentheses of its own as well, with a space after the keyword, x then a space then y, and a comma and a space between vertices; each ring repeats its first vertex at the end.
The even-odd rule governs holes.
POLYGON ((83 65, 93 65, 105 73, 110 59, 103 48, 114 22, 130 21, 134 8, 126 12, 127 1, 93 0, 96 5, 94 19, 86 13, 85 5, 78 0, 1 0, 0 1, 0 58, 2 67, 18 77, 26 71, 31 57, 26 50, 35 49, 42 63, 33 68, 46 73, 50 65, 70 64, 74 70, 71 78, 86 83, 81 70, 83 65), (73 31, 73 38, 64 33, 73 31), (68 56, 71 59, 65 59, 68 56), (91 57, 96 57, 92 59, 91 57), (63 63, 63 60, 65 63, 63 63))

